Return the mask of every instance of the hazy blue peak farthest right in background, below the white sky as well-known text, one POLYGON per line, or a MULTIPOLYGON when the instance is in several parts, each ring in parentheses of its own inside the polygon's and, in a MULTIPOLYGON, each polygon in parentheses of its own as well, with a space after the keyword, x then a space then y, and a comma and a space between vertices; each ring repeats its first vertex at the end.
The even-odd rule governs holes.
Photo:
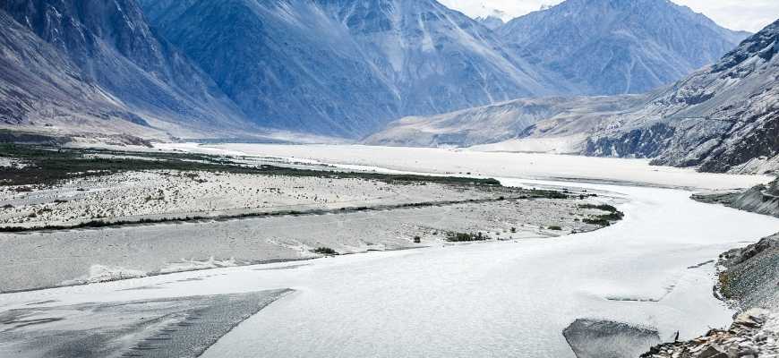
POLYGON ((497 32, 509 51, 590 95, 670 84, 714 63, 749 35, 668 0, 567 0, 497 32))

